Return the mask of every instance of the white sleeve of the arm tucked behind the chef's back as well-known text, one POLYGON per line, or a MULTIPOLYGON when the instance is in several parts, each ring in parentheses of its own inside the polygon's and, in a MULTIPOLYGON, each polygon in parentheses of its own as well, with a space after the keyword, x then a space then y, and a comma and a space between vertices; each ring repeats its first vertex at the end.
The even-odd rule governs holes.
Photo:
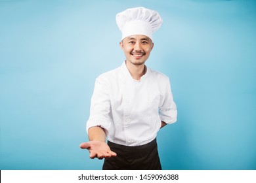
POLYGON ((165 122, 166 124, 173 124, 177 121, 177 107, 173 101, 173 94, 171 93, 171 84, 169 78, 165 80, 161 93, 159 108, 161 121, 165 122))

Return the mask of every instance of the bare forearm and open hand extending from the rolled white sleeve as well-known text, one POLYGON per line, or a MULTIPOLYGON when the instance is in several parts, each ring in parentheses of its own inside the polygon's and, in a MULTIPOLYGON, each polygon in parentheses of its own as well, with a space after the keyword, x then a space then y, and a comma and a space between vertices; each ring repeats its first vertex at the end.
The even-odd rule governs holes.
POLYGON ((81 143, 80 148, 89 150, 90 158, 103 159, 117 155, 115 152, 112 152, 108 144, 106 144, 106 133, 102 127, 91 127, 88 133, 89 142, 81 143))

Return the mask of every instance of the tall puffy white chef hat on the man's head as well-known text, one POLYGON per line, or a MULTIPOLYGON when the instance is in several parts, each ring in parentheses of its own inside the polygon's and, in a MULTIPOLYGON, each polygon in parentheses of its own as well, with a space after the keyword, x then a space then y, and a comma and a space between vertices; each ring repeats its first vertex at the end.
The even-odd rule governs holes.
POLYGON ((151 40, 163 20, 155 10, 144 7, 129 8, 116 15, 116 23, 122 33, 122 39, 130 35, 146 35, 151 40))

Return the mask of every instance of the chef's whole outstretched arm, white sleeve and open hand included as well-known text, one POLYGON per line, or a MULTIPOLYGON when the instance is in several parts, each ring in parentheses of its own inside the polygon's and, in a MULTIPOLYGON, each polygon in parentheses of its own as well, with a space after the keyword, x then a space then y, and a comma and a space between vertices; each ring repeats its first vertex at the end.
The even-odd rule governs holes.
POLYGON ((112 152, 106 144, 111 123, 109 85, 106 76, 96 78, 95 90, 91 98, 90 117, 86 127, 89 142, 80 144, 80 148, 89 150, 90 158, 103 159, 116 156, 116 153, 112 152))

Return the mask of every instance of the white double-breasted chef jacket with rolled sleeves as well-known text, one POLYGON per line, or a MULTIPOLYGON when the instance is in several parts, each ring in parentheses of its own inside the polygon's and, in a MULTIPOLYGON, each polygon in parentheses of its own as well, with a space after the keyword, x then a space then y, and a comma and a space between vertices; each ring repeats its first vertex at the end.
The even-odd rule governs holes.
POLYGON ((161 121, 172 124, 177 120, 169 78, 146 67, 140 80, 134 80, 125 61, 104 73, 95 82, 90 127, 102 127, 108 141, 125 146, 139 146, 153 141, 161 121))

